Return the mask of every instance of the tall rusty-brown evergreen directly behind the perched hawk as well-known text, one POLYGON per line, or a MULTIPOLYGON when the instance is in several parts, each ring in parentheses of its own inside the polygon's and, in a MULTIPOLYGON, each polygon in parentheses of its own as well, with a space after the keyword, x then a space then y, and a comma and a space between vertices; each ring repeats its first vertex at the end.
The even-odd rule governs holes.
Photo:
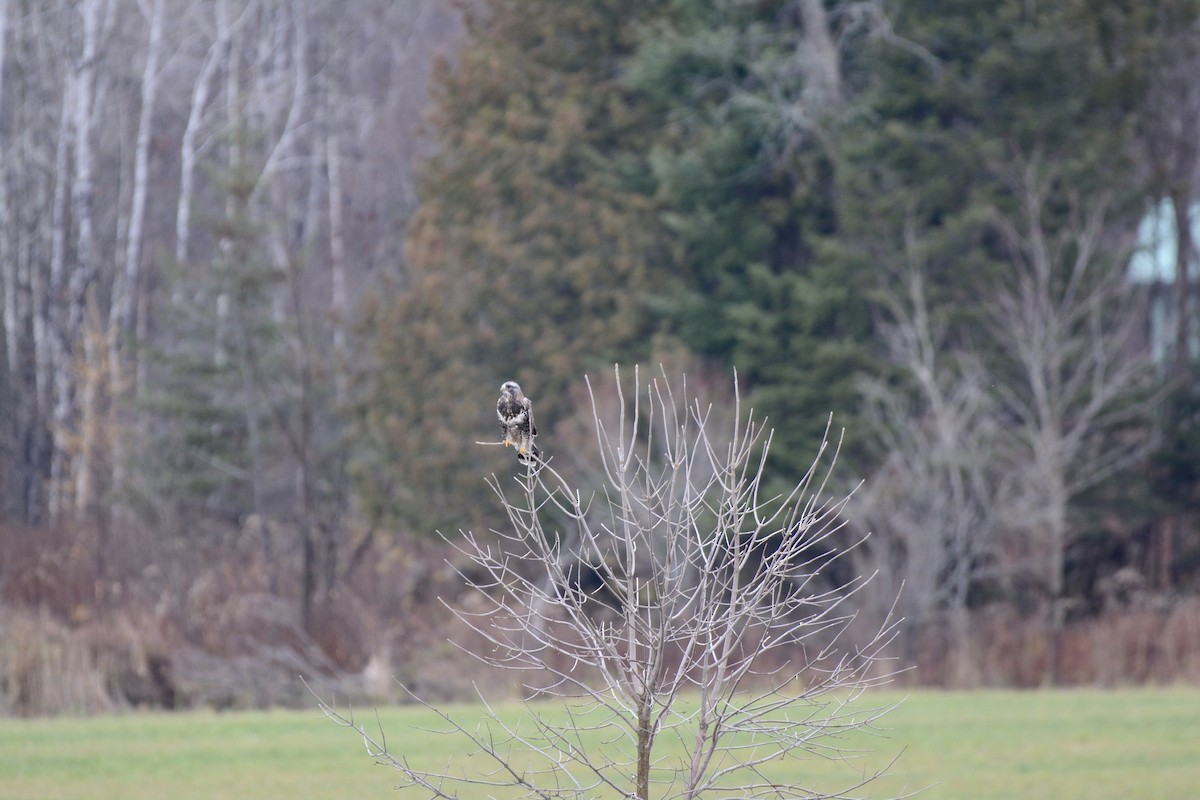
POLYGON ((504 380, 546 441, 587 369, 647 350, 660 255, 648 193, 626 190, 646 127, 619 78, 660 5, 494 0, 440 68, 407 284, 372 321, 359 473, 376 516, 462 524, 491 505, 481 474, 511 469, 474 444, 497 438, 504 380))

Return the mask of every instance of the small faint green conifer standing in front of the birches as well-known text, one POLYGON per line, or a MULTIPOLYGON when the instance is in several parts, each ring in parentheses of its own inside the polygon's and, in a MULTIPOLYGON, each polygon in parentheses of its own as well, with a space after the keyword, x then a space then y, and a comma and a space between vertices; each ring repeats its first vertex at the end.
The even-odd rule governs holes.
POLYGON ((169 344, 148 354, 157 380, 145 398, 134 492, 145 511, 185 530, 260 513, 262 467, 281 455, 263 435, 270 423, 251 372, 278 366, 262 362, 280 339, 269 296, 282 281, 256 246, 263 231, 246 205, 251 178, 244 169, 221 178, 229 206, 212 233, 222 246, 209 261, 172 267, 169 344))

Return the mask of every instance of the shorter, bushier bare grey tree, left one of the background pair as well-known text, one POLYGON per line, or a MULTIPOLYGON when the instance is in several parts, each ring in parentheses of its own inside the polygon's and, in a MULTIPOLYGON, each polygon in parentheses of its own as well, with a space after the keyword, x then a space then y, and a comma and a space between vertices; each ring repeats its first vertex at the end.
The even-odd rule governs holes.
MULTIPOLYGON (((908 258, 916 261, 911 239, 908 258)), ((925 624, 948 622, 947 679, 965 685, 973 679, 968 595, 996 566, 1024 473, 1003 457, 1003 425, 980 360, 948 345, 919 266, 906 282, 907 295, 886 303, 888 319, 880 325, 888 361, 904 380, 871 378, 864 385, 868 419, 887 456, 856 493, 851 517, 878 534, 881 547, 868 563, 886 567, 883 601, 904 587, 908 645, 925 624)))

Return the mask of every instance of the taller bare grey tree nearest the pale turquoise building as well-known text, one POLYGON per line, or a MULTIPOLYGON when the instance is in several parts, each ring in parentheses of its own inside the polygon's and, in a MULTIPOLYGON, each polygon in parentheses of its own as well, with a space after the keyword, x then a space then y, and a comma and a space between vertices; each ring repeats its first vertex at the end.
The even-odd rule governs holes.
MULTIPOLYGON (((1015 198, 994 210, 1013 273, 997 287, 991 331, 1007 362, 996 397, 1028 481, 1022 529, 1045 565, 1054 643, 1064 621, 1072 501, 1144 456, 1145 434, 1123 432, 1146 413, 1148 360, 1136 349, 1141 314, 1123 259, 1104 247, 1111 197, 1084 196, 1038 151, 994 166, 1015 198), (1064 206, 1061 224, 1050 204, 1064 206)), ((1054 646, 1052 650, 1057 648, 1054 646)), ((1048 660, 1052 678, 1055 656, 1048 660)))

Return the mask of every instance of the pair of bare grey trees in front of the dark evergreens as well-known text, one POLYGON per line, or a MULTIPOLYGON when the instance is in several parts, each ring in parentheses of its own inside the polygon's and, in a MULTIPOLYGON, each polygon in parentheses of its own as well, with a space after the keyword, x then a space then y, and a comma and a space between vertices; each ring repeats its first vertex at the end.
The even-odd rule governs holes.
POLYGON ((984 336, 938 325, 910 231, 906 291, 881 325, 906 383, 868 384, 889 455, 856 512, 889 548, 872 555, 902 565, 902 608, 914 630, 946 614, 949 680, 972 678, 972 587, 1006 575, 1044 593, 1044 678, 1052 680, 1074 504, 1147 452, 1151 438, 1138 425, 1150 365, 1136 347, 1142 317, 1122 253, 1105 240, 1111 197, 1084 194, 1037 150, 990 168, 1013 204, 992 207, 988 219, 1008 269, 984 309, 984 336), (1009 537, 1020 537, 1024 560, 997 557, 1009 537))

